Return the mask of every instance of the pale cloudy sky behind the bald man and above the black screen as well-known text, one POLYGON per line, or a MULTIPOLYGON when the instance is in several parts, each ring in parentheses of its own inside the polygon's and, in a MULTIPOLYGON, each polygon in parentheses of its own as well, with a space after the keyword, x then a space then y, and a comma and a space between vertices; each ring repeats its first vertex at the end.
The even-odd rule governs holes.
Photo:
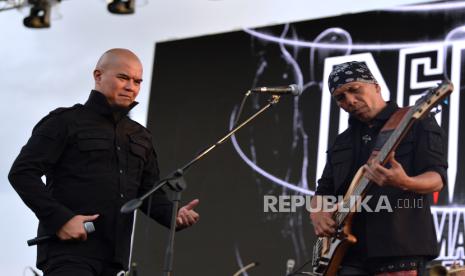
POLYGON ((10 166, 40 118, 87 99, 93 67, 105 50, 130 48, 144 63, 140 105, 132 116, 145 124, 157 41, 415 2, 425 1, 139 0, 136 13, 123 16, 108 13, 103 0, 71 0, 53 8, 46 30, 23 27, 29 8, 0 12, 0 274, 23 275, 35 264, 35 248, 26 240, 35 236, 37 220, 8 183, 10 166))

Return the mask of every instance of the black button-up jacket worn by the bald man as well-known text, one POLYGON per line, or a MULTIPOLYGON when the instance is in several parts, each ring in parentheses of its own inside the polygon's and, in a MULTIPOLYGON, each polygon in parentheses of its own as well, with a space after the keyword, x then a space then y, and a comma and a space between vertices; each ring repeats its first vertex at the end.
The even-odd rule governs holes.
MULTIPOLYGON (((39 219, 38 235, 55 234, 75 215, 100 214, 87 241, 38 246, 39 268, 63 254, 128 267, 133 215, 119 210, 159 179, 151 134, 127 116, 134 105, 115 110, 92 91, 84 105, 59 108, 43 118, 13 163, 10 182, 39 219)), ((168 226, 171 202, 163 192, 152 202, 149 215, 168 226)))

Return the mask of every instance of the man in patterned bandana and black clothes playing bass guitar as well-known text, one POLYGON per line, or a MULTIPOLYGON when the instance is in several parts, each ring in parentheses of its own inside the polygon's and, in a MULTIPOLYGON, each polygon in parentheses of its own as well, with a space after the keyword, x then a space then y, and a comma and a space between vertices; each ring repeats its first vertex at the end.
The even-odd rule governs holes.
MULTIPOLYGON (((393 208, 355 213, 352 232, 357 243, 345 254, 338 275, 420 275, 425 263, 438 255, 428 195, 447 185, 445 134, 434 117, 427 116, 412 126, 386 167, 367 163, 380 130, 398 106, 383 100, 364 62, 336 65, 328 83, 336 104, 350 115, 349 127, 327 151, 312 207, 325 195, 344 195, 363 166, 365 177, 375 184, 367 191, 372 196, 368 205, 374 210, 380 197, 387 196, 393 208)), ((317 236, 335 234, 332 214, 310 213, 317 236)))

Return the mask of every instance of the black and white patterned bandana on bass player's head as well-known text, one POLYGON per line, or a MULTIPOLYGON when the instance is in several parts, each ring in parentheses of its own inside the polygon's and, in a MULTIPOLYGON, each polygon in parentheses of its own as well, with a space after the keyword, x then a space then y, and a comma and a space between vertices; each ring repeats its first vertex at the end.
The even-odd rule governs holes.
POLYGON ((349 61, 333 67, 328 77, 329 92, 333 94, 334 90, 353 81, 378 83, 365 62, 349 61))

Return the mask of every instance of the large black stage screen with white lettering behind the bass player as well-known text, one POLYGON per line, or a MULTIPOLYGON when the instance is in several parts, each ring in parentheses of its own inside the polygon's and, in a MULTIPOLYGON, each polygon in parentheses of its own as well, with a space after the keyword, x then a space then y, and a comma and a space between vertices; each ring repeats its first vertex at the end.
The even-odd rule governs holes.
MULTIPOLYGON (((183 199, 200 199, 201 220, 177 233, 175 275, 232 275, 254 261, 260 265, 248 275, 285 275, 290 259, 297 267, 311 258, 315 236, 305 209, 264 212, 263 197, 313 194, 325 151, 347 126, 331 102, 327 75, 350 60, 365 61, 384 98, 400 106, 443 79, 453 81, 455 91, 436 115, 449 137, 449 183, 431 201, 438 261, 463 260, 464 38, 464 5, 439 3, 158 43, 148 127, 162 175, 224 135, 248 89, 303 88, 192 166, 183 199)), ((251 95, 241 118, 267 101, 251 95)), ((159 274, 167 231, 138 219, 138 275, 159 274)))

